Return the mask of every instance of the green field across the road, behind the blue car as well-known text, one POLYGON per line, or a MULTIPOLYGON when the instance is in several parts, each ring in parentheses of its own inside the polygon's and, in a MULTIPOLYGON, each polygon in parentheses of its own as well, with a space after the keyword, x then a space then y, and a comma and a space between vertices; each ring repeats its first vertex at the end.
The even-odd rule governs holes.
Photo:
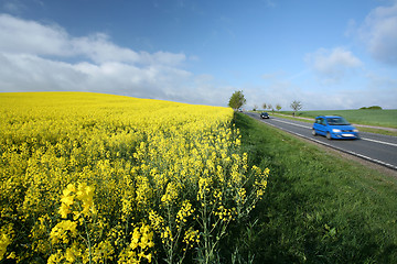
MULTIPOLYGON (((280 113, 292 114, 291 111, 280 113)), ((297 117, 315 118, 318 116, 337 114, 347 119, 351 123, 397 128, 397 110, 324 110, 324 111, 299 111, 297 117)))

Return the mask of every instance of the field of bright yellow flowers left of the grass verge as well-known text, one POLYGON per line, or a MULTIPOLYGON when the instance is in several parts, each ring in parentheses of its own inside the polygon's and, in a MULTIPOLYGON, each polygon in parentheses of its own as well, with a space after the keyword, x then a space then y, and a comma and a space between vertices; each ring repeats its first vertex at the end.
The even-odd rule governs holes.
POLYGON ((0 94, 0 262, 223 262, 219 244, 269 174, 247 166, 233 114, 100 94, 0 94))

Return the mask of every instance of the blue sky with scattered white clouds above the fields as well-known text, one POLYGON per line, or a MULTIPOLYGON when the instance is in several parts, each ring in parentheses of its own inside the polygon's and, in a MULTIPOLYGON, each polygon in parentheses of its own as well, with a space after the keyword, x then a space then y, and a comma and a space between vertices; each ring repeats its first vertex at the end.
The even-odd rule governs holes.
POLYGON ((397 109, 397 0, 0 0, 0 92, 397 109))

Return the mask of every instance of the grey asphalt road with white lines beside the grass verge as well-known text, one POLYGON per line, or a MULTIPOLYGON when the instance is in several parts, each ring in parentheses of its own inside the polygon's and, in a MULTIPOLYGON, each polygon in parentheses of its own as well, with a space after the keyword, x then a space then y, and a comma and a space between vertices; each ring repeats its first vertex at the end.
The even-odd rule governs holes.
POLYGON ((325 136, 312 135, 311 123, 275 117, 260 119, 259 113, 251 112, 246 114, 289 133, 397 170, 397 136, 360 132, 360 140, 326 140, 325 136))

